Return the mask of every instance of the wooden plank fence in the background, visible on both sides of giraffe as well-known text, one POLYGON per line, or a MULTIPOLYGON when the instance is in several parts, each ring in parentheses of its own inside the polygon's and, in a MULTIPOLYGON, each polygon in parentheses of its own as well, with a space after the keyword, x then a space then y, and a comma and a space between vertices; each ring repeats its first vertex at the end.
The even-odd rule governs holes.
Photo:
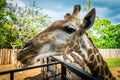
MULTIPOLYGON (((18 49, 0 49, 0 65, 15 64, 18 49)), ((120 58, 120 49, 99 49, 104 58, 120 58)))

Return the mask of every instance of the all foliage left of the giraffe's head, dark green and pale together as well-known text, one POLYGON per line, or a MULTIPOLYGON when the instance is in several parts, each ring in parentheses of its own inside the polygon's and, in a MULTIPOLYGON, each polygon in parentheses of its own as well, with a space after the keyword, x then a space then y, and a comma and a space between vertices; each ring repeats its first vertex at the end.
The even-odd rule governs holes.
POLYGON ((12 45, 20 48, 50 24, 49 17, 40 12, 41 9, 37 8, 35 3, 25 9, 12 3, 6 5, 6 1, 2 3, 4 6, 0 8, 0 48, 12 48, 12 45), (7 7, 4 8, 5 6, 7 7))

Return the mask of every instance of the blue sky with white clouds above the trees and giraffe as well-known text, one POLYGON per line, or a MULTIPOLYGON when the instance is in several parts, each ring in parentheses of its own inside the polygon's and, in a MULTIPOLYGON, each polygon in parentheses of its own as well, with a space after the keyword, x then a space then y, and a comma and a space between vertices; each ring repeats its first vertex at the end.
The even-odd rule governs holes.
MULTIPOLYGON (((8 2, 10 0, 7 0, 8 2)), ((31 6, 30 3, 42 9, 42 12, 50 16, 52 22, 63 19, 66 13, 71 13, 74 5, 80 4, 82 7, 87 5, 87 1, 92 3, 96 9, 96 15, 101 18, 109 18, 113 24, 120 23, 120 0, 12 0, 18 6, 31 6)), ((87 13, 81 10, 80 16, 84 17, 87 13)))

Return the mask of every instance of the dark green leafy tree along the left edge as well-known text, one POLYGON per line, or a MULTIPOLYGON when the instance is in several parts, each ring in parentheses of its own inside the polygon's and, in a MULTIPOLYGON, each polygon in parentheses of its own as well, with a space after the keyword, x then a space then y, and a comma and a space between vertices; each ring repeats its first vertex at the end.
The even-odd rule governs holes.
POLYGON ((16 30, 12 27, 16 16, 6 5, 6 0, 0 2, 0 48, 11 47, 10 42, 16 39, 16 30))

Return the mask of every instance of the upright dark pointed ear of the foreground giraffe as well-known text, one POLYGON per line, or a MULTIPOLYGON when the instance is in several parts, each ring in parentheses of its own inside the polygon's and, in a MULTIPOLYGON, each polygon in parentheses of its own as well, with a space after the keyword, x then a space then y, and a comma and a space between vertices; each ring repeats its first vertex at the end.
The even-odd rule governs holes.
POLYGON ((95 22, 96 11, 93 8, 83 19, 82 27, 87 30, 92 27, 93 23, 95 22))

